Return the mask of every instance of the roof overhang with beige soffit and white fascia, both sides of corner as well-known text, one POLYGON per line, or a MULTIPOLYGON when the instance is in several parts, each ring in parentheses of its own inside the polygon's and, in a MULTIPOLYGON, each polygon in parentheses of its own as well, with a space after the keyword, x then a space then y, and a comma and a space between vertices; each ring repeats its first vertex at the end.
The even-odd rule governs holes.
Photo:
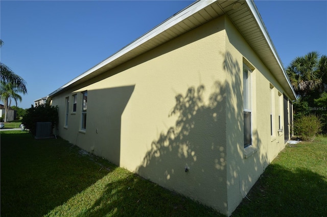
POLYGON ((123 49, 112 56, 85 71, 82 75, 50 93, 48 97, 54 97, 224 14, 229 17, 254 52, 258 54, 276 80, 283 86, 291 100, 295 100, 295 91, 286 75, 282 61, 269 37, 258 9, 256 9, 252 0, 197 1, 160 23, 160 25, 123 47, 123 49), (236 4, 238 7, 235 7, 236 4))

